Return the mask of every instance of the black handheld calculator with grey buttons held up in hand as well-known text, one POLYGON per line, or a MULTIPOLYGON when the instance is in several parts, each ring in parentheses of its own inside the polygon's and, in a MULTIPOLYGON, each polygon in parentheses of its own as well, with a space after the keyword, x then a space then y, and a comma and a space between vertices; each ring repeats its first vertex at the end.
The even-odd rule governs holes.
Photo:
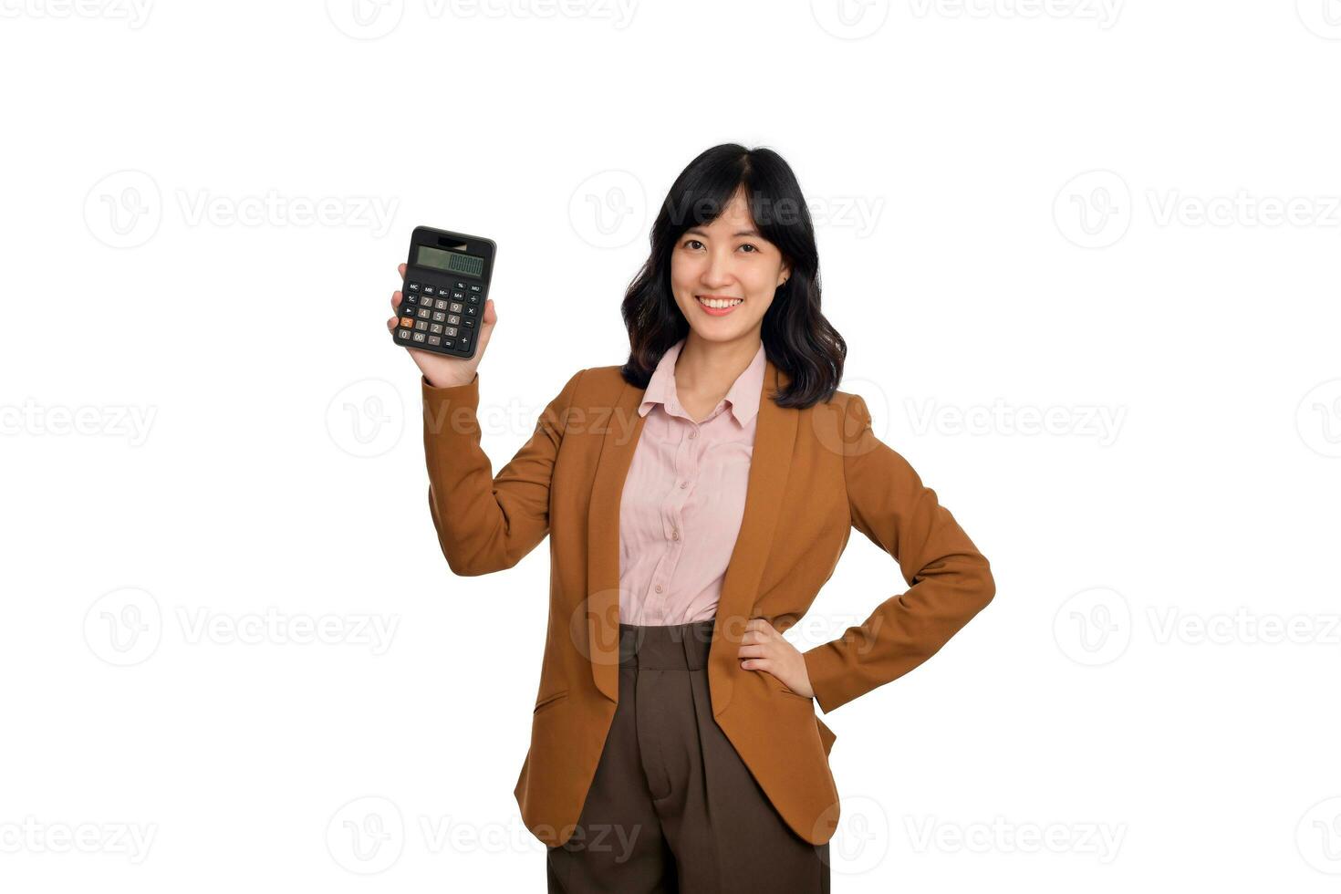
POLYGON ((492 239, 416 227, 396 342, 448 357, 475 357, 496 251, 492 239))

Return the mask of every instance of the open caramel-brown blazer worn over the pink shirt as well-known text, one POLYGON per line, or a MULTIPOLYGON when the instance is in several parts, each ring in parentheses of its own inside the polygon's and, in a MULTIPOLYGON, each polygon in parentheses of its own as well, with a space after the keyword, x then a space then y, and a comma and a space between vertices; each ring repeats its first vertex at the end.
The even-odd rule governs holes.
MULTIPOLYGON (((827 713, 912 670, 986 606, 987 559, 912 466, 881 442, 856 394, 779 407, 787 374, 768 359, 744 516, 723 580, 708 662, 713 717, 783 820, 807 842, 833 836, 838 792, 827 713), (805 654, 814 701, 740 667, 746 622, 786 630, 806 614, 857 528, 909 588, 861 626, 805 654)), ((511 568, 550 535, 550 619, 516 783, 527 828, 554 847, 574 831, 618 700, 620 497, 645 417, 618 366, 579 370, 498 474, 480 449, 479 375, 421 377, 429 511, 451 570, 511 568)))

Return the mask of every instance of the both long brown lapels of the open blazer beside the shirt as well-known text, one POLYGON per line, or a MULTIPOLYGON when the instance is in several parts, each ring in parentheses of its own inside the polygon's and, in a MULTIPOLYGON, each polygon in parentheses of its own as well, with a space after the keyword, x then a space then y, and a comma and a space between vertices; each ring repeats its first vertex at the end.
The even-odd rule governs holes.
MULTIPOLYGON (((736 651, 759 590, 791 468, 798 413, 772 402, 772 394, 789 382, 790 377, 766 358, 744 515, 721 583, 708 657, 713 714, 720 714, 731 701, 731 682, 739 672, 736 651)), ((646 421, 638 414, 642 395, 644 389, 625 382, 603 422, 587 512, 587 650, 597 689, 616 702, 620 700, 620 501, 646 421)), ((595 425, 602 424, 601 411, 595 411, 595 425)))

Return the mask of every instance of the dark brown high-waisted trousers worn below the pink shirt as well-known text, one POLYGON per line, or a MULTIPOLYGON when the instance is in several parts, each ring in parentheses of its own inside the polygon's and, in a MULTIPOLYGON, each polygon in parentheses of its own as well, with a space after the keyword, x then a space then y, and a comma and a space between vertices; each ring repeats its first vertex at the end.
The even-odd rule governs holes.
POLYGON ((829 894, 829 843, 787 827, 712 718, 711 638, 620 625, 620 704, 550 894, 829 894))

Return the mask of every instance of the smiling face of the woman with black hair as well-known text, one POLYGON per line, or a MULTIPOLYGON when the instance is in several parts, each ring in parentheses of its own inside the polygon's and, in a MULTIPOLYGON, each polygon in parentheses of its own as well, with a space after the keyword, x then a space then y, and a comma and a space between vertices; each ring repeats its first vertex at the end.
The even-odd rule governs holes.
POLYGON ((759 330, 774 291, 791 275, 750 217, 738 188, 711 224, 691 227, 670 253, 670 290, 695 335, 728 342, 759 330))

